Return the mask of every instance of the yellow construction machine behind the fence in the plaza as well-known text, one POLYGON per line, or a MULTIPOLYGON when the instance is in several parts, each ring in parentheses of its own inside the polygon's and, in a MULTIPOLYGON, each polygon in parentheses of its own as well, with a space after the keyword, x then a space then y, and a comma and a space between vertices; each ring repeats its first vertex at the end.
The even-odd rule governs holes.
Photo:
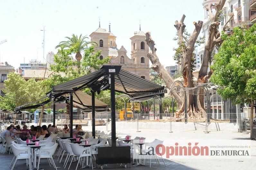
MULTIPOLYGON (((140 110, 140 103, 134 103, 134 111, 138 112, 140 110)), ((119 111, 119 119, 120 120, 130 120, 133 119, 133 103, 127 103, 126 106, 126 115, 125 109, 119 111)))

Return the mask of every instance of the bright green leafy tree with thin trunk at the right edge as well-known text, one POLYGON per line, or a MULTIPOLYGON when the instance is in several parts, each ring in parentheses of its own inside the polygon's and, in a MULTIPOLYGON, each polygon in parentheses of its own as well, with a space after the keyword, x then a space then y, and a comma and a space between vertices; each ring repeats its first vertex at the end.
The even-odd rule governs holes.
POLYGON ((219 53, 214 56, 213 75, 210 79, 218 85, 223 99, 236 103, 250 103, 251 139, 253 129, 253 104, 256 99, 256 24, 249 30, 235 27, 233 35, 223 35, 219 53))

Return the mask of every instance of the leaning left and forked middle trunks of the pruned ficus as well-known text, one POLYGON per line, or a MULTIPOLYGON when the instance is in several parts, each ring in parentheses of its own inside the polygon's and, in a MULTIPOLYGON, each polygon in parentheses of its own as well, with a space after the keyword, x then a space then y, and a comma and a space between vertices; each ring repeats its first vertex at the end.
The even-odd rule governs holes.
MULTIPOLYGON (((203 21, 193 22, 195 29, 190 37, 185 38, 183 33, 185 31, 186 25, 184 24, 185 15, 181 17, 181 20, 175 21, 175 28, 178 33, 178 43, 180 46, 180 63, 182 67, 182 76, 184 79, 184 87, 191 88, 194 86, 193 78, 191 76, 191 62, 193 62, 193 52, 195 43, 197 41, 197 37, 201 31, 203 21)), ((156 55, 156 47, 153 39, 151 38, 150 32, 146 33, 146 42, 151 49, 151 52, 148 53, 147 57, 150 59, 152 65, 152 69, 160 74, 160 77, 164 80, 167 87, 170 89, 174 80, 168 74, 168 72, 164 69, 163 65, 160 63, 158 56, 156 55)), ((176 113, 176 117, 183 117, 184 110, 187 109, 187 113, 189 117, 195 117, 194 114, 194 99, 191 94, 187 94, 187 108, 184 108, 184 99, 178 95, 178 93, 173 90, 171 91, 174 98, 177 100, 178 105, 180 106, 180 110, 176 113)))

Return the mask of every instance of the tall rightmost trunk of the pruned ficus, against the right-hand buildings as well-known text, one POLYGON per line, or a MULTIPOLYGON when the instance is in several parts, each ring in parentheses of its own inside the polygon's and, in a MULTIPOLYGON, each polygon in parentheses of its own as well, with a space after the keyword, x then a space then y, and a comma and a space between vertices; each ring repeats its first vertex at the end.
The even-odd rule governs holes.
MULTIPOLYGON (((204 49, 204 55, 203 55, 203 63, 201 65, 201 68, 198 73, 197 83, 206 83, 208 79, 211 77, 213 71, 210 70, 208 72, 209 64, 212 62, 212 52, 214 50, 214 47, 220 46, 223 42, 221 38, 221 31, 218 30, 220 25, 220 15, 222 13, 222 8, 225 4, 226 0, 220 0, 219 3, 213 4, 211 3, 209 6, 206 7, 207 11, 209 12, 209 19, 210 19, 210 26, 209 26, 209 35, 208 39, 206 41, 205 49, 204 49), (213 13, 213 7, 215 7, 215 13, 213 13)), ((225 23, 223 27, 223 31, 226 31, 227 24, 229 21, 233 19, 233 15, 230 17, 230 19, 225 23)), ((199 95, 197 96, 197 106, 198 110, 203 112, 205 109, 204 106, 204 89, 199 90, 199 95)))

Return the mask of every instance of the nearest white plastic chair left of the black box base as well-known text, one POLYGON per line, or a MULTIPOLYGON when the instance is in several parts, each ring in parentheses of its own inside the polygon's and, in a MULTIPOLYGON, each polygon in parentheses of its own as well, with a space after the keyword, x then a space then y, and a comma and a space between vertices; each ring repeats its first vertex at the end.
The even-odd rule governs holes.
MULTIPOLYGON (((72 148, 74 156, 79 157, 77 167, 78 167, 80 160, 82 161, 82 166, 84 166, 83 159, 81 159, 82 157, 90 157, 90 165, 92 164, 91 147, 84 148, 84 147, 79 146, 77 143, 70 144, 70 146, 72 148)), ((72 157, 71 162, 72 162, 74 156, 72 157)), ((71 163, 70 163, 70 165, 71 165, 71 163)), ((70 165, 69 165, 69 167, 70 167, 70 165)), ((77 170, 77 167, 76 167, 76 170, 77 170)), ((93 165, 92 165, 92 169, 93 169, 93 165)))

